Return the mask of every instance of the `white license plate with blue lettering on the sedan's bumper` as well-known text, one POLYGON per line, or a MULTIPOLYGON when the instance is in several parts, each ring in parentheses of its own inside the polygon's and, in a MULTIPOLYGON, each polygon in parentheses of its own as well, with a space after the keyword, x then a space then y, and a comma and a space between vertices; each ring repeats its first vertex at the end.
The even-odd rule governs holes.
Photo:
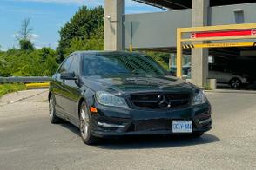
POLYGON ((192 121, 172 121, 172 133, 192 133, 192 121))

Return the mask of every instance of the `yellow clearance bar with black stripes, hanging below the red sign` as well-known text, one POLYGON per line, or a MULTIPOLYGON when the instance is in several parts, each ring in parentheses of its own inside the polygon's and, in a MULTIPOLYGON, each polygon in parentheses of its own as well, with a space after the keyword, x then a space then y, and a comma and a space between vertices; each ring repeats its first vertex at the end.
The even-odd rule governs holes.
POLYGON ((256 42, 194 43, 194 44, 182 45, 183 49, 253 47, 253 46, 256 46, 256 42))

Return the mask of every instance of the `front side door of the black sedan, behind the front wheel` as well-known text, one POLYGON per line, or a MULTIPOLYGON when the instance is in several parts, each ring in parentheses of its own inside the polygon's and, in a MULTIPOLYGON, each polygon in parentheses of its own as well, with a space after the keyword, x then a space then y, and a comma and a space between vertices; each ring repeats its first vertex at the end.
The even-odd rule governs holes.
POLYGON ((69 114, 70 121, 77 123, 78 121, 78 108, 77 103, 80 99, 81 89, 80 89, 80 55, 74 54, 73 60, 71 62, 71 67, 68 72, 74 73, 77 80, 65 80, 64 81, 64 112, 69 114))

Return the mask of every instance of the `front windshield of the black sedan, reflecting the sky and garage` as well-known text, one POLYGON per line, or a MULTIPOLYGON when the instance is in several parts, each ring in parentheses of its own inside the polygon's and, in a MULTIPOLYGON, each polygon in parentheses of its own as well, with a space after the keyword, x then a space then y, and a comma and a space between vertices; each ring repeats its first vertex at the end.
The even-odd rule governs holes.
POLYGON ((139 54, 96 54, 83 56, 83 75, 166 75, 150 56, 139 54))

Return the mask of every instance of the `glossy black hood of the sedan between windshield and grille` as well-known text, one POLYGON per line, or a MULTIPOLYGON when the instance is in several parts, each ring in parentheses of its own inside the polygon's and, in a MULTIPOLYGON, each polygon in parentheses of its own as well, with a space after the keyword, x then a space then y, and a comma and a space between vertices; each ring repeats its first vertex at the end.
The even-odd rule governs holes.
POLYGON ((195 86, 172 76, 123 75, 89 76, 83 78, 84 85, 94 91, 111 93, 144 93, 158 91, 192 92, 195 86))

